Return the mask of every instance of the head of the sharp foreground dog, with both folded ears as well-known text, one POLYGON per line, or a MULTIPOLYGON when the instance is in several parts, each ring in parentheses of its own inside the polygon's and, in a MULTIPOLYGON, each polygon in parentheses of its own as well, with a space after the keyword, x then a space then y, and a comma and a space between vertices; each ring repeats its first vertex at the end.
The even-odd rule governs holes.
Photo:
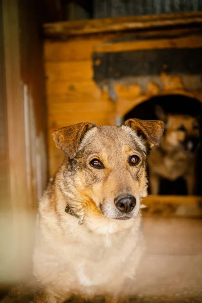
POLYGON ((129 119, 122 126, 79 123, 56 130, 67 155, 60 187, 80 216, 129 220, 147 192, 146 155, 159 145, 162 121, 129 119))

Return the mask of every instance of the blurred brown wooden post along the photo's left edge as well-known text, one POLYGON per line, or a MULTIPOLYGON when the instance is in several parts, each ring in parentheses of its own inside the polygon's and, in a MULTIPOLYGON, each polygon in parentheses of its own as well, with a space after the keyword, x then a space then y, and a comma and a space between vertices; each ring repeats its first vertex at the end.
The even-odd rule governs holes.
POLYGON ((1 4, 10 185, 1 203, 1 281, 12 284, 26 279, 32 266, 35 209, 47 178, 46 112, 38 7, 24 0, 1 4))

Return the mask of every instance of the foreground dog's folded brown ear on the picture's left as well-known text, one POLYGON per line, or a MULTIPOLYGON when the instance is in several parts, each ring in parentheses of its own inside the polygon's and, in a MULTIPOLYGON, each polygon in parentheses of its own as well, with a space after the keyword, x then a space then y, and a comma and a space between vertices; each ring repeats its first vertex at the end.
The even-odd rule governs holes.
POLYGON ((87 122, 66 126, 55 130, 53 138, 57 147, 62 149, 70 159, 73 159, 77 153, 81 138, 87 130, 94 126, 94 124, 87 122))

